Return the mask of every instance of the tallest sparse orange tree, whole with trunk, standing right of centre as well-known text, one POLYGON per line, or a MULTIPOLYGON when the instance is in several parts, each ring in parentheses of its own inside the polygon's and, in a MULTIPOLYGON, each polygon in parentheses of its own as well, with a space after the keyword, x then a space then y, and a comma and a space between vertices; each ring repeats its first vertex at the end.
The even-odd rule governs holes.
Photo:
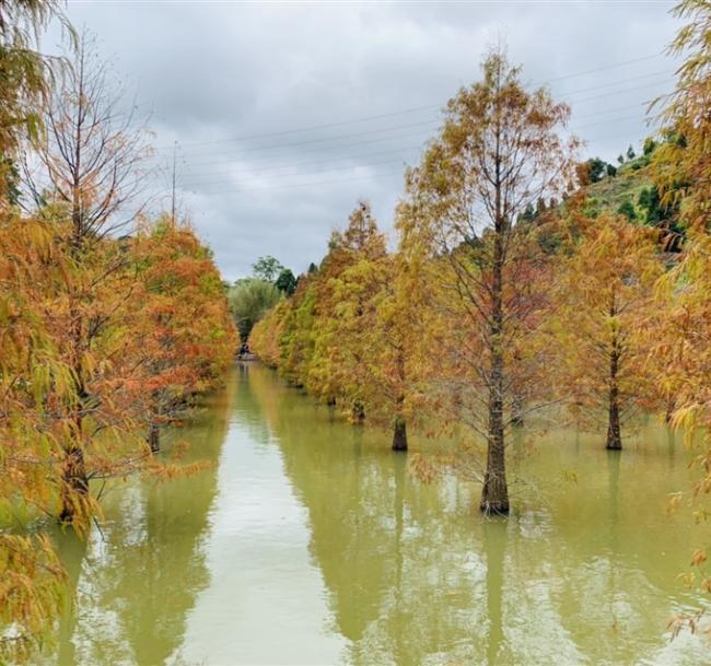
POLYGON ((480 509, 509 512, 505 432, 520 411, 518 341, 537 319, 531 281, 532 232, 522 215, 569 185, 575 140, 561 130, 570 110, 545 90, 528 92, 502 52, 483 79, 450 102, 441 135, 407 175, 403 248, 441 264, 440 305, 452 317, 443 350, 456 371, 454 396, 465 422, 486 441, 480 509))

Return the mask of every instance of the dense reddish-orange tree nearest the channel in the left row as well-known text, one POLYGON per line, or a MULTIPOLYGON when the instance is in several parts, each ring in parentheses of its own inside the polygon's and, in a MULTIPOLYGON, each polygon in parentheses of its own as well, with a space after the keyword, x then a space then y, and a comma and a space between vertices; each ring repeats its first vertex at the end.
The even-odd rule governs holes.
POLYGON ((238 347, 220 273, 210 250, 185 223, 163 215, 143 225, 130 246, 139 276, 132 297, 133 379, 139 420, 153 453, 160 428, 178 420, 195 396, 219 383, 238 347))

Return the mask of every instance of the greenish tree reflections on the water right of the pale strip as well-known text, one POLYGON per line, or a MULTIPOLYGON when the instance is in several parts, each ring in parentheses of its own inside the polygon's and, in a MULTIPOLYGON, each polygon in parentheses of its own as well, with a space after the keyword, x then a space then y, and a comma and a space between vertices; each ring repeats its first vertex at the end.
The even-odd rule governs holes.
MULTIPOLYGON (((250 383, 308 511, 348 663, 657 663, 672 609, 699 603, 676 585, 683 558, 663 554, 669 530, 693 542, 688 525, 665 517, 665 488, 686 472, 668 477, 664 429, 645 431, 645 451, 616 457, 575 431, 550 433, 533 454, 515 439, 533 488, 511 518, 486 519, 476 489, 411 479, 386 433, 329 419, 265 369, 250 383), (643 505, 639 465, 658 483, 643 505)), ((687 636, 674 663, 696 665, 706 650, 687 636)))

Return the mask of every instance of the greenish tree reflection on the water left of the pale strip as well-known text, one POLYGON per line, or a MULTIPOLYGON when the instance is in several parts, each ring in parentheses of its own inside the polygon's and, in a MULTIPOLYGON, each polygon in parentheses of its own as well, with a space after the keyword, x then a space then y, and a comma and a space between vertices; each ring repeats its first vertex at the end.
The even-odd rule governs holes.
MULTIPOLYGON (((188 459, 218 460, 234 387, 231 381, 194 424, 172 432, 166 449, 185 440, 193 442, 188 459)), ((161 665, 179 647, 196 595, 210 583, 202 539, 217 469, 166 482, 131 479, 109 491, 106 522, 89 542, 58 535, 77 612, 60 621, 56 663, 161 665)))

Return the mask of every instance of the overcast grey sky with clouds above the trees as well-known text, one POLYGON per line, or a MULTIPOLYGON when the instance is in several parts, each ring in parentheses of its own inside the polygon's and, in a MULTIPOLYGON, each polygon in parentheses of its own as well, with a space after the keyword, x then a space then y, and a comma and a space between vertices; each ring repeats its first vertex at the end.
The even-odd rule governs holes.
POLYGON ((150 113, 166 207, 177 141, 180 209, 234 280, 261 255, 296 272, 319 261, 361 198, 391 230, 405 164, 500 40, 525 81, 572 105, 585 155, 614 161, 673 84, 673 4, 70 0, 67 13, 150 113))

